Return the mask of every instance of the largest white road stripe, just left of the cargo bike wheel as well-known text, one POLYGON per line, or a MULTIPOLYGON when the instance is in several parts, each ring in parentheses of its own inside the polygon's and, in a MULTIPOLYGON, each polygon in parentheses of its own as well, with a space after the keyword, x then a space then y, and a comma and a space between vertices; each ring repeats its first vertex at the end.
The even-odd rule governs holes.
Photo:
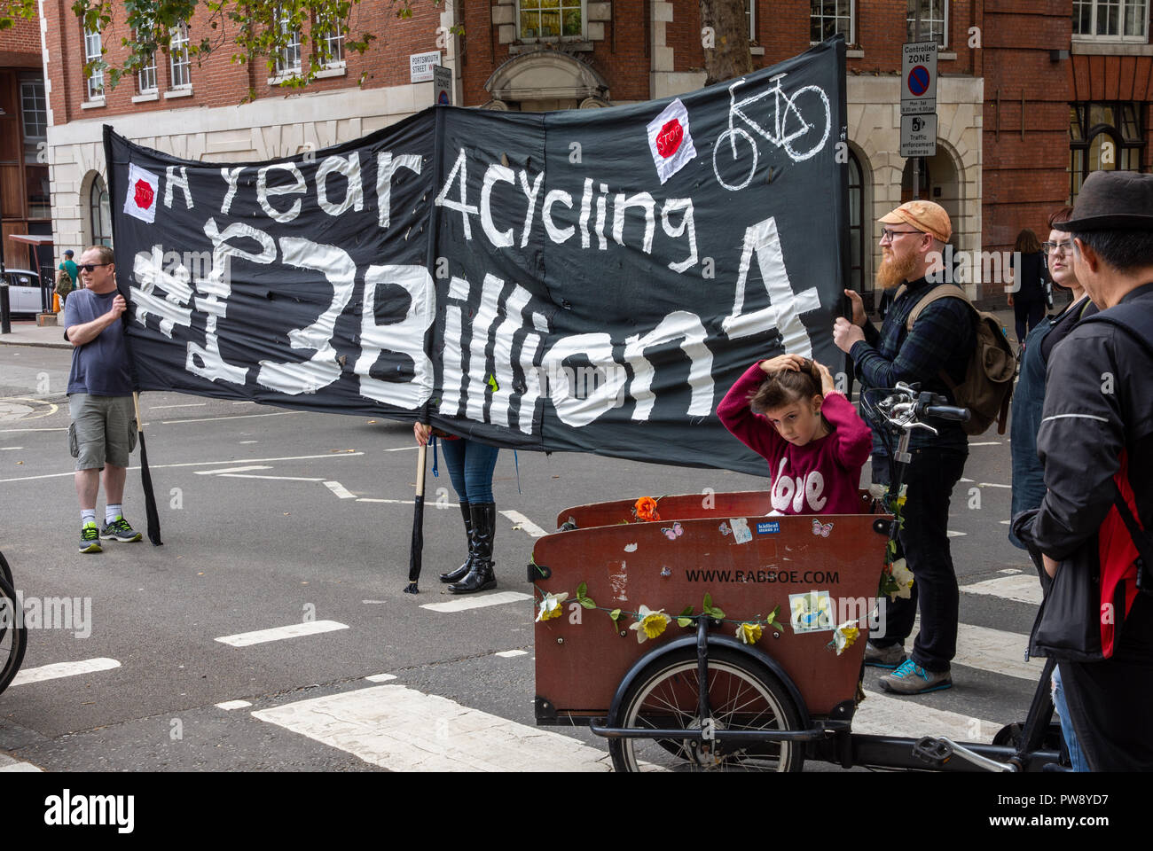
POLYGON ((393 771, 606 771, 609 754, 401 685, 261 709, 253 717, 393 771))

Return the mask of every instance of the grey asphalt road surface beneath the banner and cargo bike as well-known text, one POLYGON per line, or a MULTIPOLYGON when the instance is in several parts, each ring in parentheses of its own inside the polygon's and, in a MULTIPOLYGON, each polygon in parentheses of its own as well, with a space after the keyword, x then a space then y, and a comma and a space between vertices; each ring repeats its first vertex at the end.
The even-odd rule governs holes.
MULTIPOLYGON (((533 607, 436 612, 435 573, 464 535, 443 460, 428 479, 424 579, 408 568, 416 453, 410 428, 178 393, 142 399, 164 547, 108 542, 80 555, 66 449, 69 353, 0 345, 0 549, 25 597, 90 600, 83 628, 30 630, 24 669, 112 660, 104 670, 14 685, 0 695, 0 752, 50 771, 377 770, 378 765, 253 715, 395 683, 533 725, 533 607), (395 502, 362 502, 362 499, 395 502), (438 499, 447 510, 436 509, 438 499), (216 639, 336 622, 347 628, 247 647, 216 639), (90 634, 84 634, 90 630, 90 634), (522 650, 519 655, 497 653, 522 650), (250 707, 216 705, 243 700, 250 707)), ((1009 445, 973 439, 950 528, 963 585, 1031 572, 1005 540, 1009 445), (975 489, 975 490, 973 490, 975 489)), ((759 489, 767 480, 591 455, 500 453, 500 510, 553 528, 557 512, 623 496, 759 489)), ((134 461, 135 464, 135 461, 134 461)), ((103 502, 101 502, 103 507, 103 502)), ((126 515, 143 529, 140 474, 126 515)), ((529 593, 533 539, 502 518, 500 590, 529 593)), ((1027 632, 1035 607, 963 595, 962 620, 1027 632)), ((99 664, 108 665, 104 662, 99 664)), ((866 685, 875 688, 874 672, 866 685)), ((958 669, 951 692, 912 699, 975 718, 1020 720, 1033 685, 958 669)), ((587 731, 559 729, 593 747, 587 731)))

